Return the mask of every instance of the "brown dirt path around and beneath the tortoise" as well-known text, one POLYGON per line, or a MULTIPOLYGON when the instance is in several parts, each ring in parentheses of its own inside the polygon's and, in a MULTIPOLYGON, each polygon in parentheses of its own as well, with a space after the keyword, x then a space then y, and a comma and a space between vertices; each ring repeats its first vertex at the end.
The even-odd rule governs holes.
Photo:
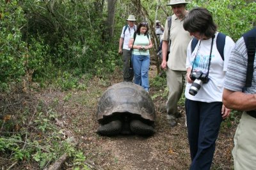
MULTIPOLYGON (((150 69, 154 76, 156 68, 150 69)), ((120 74, 102 81, 95 78, 84 91, 47 91, 42 98, 51 104, 58 99, 56 110, 65 129, 76 136, 78 147, 86 155, 86 164, 91 169, 189 169, 190 157, 184 108, 177 127, 169 127, 164 113, 165 99, 155 99, 156 134, 150 138, 140 136, 104 137, 95 133, 98 123, 96 106, 102 92, 111 84, 120 81, 120 74), (69 96, 67 100, 67 96, 69 96)), ((150 91, 150 95, 154 95, 150 91)), ((223 126, 217 141, 212 169, 232 169, 231 150, 234 125, 223 126)), ((68 169, 68 167, 65 167, 68 169)))

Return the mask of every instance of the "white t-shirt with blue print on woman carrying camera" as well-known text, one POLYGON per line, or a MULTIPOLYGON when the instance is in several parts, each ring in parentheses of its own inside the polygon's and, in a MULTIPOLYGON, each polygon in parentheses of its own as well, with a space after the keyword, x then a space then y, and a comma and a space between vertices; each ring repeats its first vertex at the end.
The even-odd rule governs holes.
MULTIPOLYGON (((201 89, 195 96, 189 94, 189 89, 191 87, 191 83, 187 83, 185 96, 187 99, 193 101, 202 101, 202 102, 221 102, 222 101, 222 93, 223 93, 223 82, 225 80, 225 71, 227 71, 227 63, 230 56, 230 52, 234 47, 234 41, 226 36, 225 46, 224 46, 224 61, 221 58, 220 53, 218 52, 216 46, 216 37, 218 32, 215 34, 215 38, 212 45, 212 55, 211 55, 211 65, 209 69, 209 82, 203 83, 201 89)), ((191 53, 191 41, 188 45, 187 50, 187 60, 186 60, 186 69, 192 68, 195 71, 202 71, 203 73, 207 73, 209 66, 209 56, 211 51, 211 43, 212 38, 202 40, 201 43, 198 41, 195 50, 191 53), (196 59, 195 59, 196 55, 196 59)))

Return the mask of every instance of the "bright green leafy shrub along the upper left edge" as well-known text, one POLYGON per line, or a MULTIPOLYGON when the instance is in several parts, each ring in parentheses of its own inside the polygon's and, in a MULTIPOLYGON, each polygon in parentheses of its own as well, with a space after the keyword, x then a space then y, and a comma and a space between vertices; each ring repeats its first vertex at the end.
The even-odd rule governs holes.
POLYGON ((26 18, 17 1, 8 4, 1 1, 0 13, 0 84, 3 84, 20 81, 25 74, 24 58, 28 51, 20 32, 26 18))

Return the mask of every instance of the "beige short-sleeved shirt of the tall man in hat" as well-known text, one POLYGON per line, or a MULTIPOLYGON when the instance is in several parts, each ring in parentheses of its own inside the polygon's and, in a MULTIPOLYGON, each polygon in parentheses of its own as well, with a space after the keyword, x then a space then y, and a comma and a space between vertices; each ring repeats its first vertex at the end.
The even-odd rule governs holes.
MULTIPOLYGON (((172 26, 170 29, 170 39, 172 43, 167 66, 177 71, 186 71, 187 48, 189 41, 192 39, 189 32, 184 30, 183 22, 184 20, 179 20, 175 14, 172 15, 172 26)), ((168 41, 168 20, 165 22, 162 39, 168 41)))

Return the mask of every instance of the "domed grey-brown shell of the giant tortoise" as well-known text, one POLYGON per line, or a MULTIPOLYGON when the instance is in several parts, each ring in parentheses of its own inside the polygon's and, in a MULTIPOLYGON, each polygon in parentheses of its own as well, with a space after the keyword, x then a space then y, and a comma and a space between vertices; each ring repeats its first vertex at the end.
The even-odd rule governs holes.
POLYGON ((156 119, 155 106, 148 92, 140 85, 126 81, 112 85, 100 97, 97 120, 102 122, 114 113, 140 115, 151 123, 156 119))

